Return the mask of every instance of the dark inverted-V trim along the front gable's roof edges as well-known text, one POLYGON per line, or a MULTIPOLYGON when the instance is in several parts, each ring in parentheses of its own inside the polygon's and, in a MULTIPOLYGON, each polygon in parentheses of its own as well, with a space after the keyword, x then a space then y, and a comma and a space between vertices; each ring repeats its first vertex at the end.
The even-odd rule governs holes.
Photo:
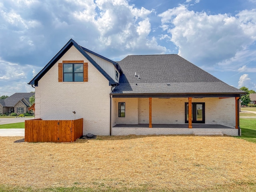
MULTIPOLYGON (((98 69, 104 77, 109 81, 109 84, 116 84, 116 82, 79 46, 74 40, 70 39, 68 43, 44 66, 44 68, 28 83, 30 85, 38 86, 38 81, 56 64, 56 62, 72 47, 74 46, 90 63, 98 69)), ((103 56, 102 56, 103 57, 103 56)))

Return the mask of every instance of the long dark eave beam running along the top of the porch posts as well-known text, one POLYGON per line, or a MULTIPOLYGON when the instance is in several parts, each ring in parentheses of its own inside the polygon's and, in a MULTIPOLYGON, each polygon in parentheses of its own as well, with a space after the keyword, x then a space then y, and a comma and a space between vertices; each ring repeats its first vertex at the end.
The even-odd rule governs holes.
POLYGON ((112 98, 212 98, 212 97, 240 97, 240 94, 120 94, 112 98))

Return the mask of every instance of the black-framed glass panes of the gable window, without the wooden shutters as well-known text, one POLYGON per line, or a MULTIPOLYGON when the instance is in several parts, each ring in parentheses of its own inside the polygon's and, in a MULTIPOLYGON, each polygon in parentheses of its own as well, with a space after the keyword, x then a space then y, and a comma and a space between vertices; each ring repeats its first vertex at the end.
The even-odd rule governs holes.
POLYGON ((84 70, 82 63, 63 64, 63 81, 83 81, 84 70))

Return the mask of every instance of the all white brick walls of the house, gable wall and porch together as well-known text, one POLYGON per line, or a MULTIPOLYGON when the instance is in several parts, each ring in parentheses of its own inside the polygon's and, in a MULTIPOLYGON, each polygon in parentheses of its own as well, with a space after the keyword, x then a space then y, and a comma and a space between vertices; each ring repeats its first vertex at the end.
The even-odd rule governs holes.
MULTIPOLYGON (((114 76, 115 70, 112 74, 114 76)), ((110 134, 109 81, 72 46, 39 80, 35 90, 35 118, 72 120, 84 118, 83 134, 110 134), (64 60, 88 62, 88 82, 58 82, 58 63, 64 60), (76 111, 74 115, 72 111, 76 111)), ((188 98, 152 98, 152 124, 185 124, 188 98)), ((235 126, 235 98, 192 98, 205 103, 205 124, 235 126)), ((112 126, 148 124, 148 98, 112 98, 112 126), (118 102, 125 102, 125 117, 118 117, 118 102)), ((202 130, 202 129, 200 129, 202 130)), ((235 134, 227 130, 228 134, 235 134), (229 132, 232 133, 229 133, 229 132)), ((112 128, 112 134, 190 134, 191 129, 112 128)), ((223 132, 226 134, 226 132, 223 132)))

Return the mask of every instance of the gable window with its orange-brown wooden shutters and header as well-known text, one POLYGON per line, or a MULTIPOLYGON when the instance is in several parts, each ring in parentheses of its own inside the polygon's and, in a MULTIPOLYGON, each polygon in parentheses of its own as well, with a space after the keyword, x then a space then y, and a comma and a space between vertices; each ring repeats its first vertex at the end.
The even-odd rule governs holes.
POLYGON ((62 61, 58 65, 58 82, 88 82, 88 63, 62 61))

